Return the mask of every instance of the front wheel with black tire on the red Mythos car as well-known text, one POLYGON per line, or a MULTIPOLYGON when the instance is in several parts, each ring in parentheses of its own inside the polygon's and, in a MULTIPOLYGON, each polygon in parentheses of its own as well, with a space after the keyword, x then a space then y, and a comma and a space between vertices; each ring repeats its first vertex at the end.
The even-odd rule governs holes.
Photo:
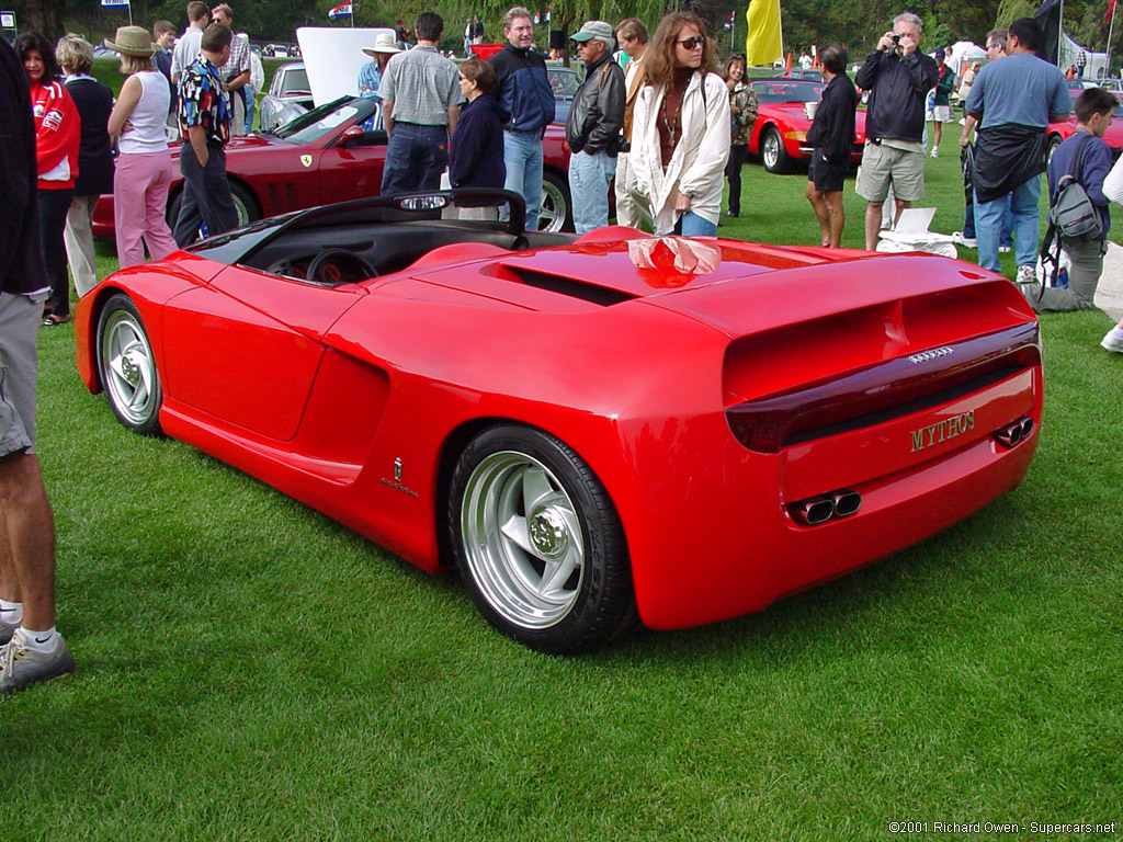
POLYGON ((117 293, 98 319, 98 374, 117 420, 141 436, 159 436, 164 392, 140 311, 117 293))

